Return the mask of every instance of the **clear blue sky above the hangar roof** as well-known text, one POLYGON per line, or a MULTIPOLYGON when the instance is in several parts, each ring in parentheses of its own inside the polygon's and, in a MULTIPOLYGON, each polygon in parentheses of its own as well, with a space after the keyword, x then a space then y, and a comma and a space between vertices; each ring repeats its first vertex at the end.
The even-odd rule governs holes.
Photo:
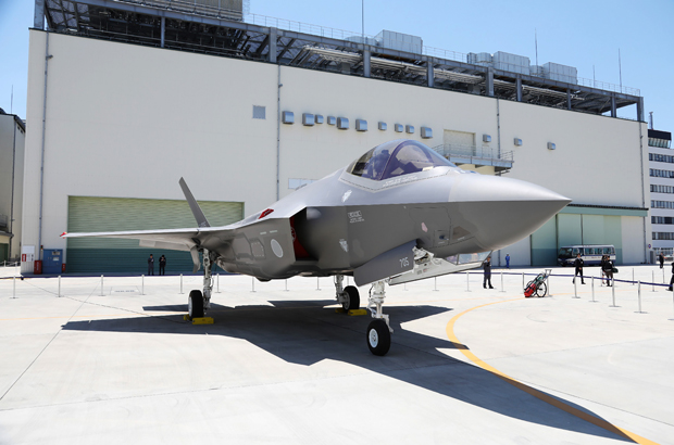
MULTIPOLYGON (((0 107, 26 115, 30 0, 0 0, 0 107), (14 102, 11 102, 12 86, 14 102)), ((253 14, 361 31, 360 0, 250 0, 253 14)), ((504 51, 539 64, 575 66, 578 77, 638 88, 656 129, 674 131, 673 0, 398 1, 365 0, 365 34, 382 29, 422 37, 424 44, 458 52, 504 51)), ((633 107, 620 116, 636 117, 633 107)))

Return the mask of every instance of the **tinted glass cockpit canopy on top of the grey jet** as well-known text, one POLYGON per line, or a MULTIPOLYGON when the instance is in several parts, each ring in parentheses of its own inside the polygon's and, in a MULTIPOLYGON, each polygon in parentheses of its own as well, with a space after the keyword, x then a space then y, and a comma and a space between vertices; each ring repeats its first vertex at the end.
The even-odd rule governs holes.
POLYGON ((353 161, 347 173, 380 181, 434 167, 453 167, 454 164, 421 142, 397 139, 375 147, 353 161))

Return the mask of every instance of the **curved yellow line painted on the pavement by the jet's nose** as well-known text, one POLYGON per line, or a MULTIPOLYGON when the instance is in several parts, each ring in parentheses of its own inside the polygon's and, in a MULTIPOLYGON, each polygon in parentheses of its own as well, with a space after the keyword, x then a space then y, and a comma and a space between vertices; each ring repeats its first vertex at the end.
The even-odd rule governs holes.
POLYGON ((516 300, 523 300, 522 297, 517 297, 517 298, 511 298, 511 300, 503 300, 501 302, 494 302, 494 303, 487 303, 487 304, 483 304, 479 306, 475 306, 472 307, 470 309, 466 309, 464 312, 462 312, 461 314, 458 314, 457 316, 454 316, 451 320, 449 320, 449 322, 447 323, 447 336, 449 338, 449 341, 452 342, 454 344, 454 346, 461 351, 461 353, 466 356, 472 363, 474 363, 475 365, 479 366, 480 368, 483 368, 486 371, 489 371, 496 376, 498 376, 499 378, 501 378, 502 380, 504 380, 506 382, 510 383, 511 385, 515 386, 519 390, 524 391, 527 394, 533 395, 534 397, 550 404, 565 412, 569 412, 570 415, 573 415, 579 419, 583 419, 594 425, 597 425, 599 428, 603 428, 607 431, 610 431, 614 434, 621 435, 623 437, 629 438, 634 442, 636 442, 637 444, 641 444, 641 445, 658 445, 656 442, 649 441, 648 438, 641 437, 638 434, 635 434, 631 431, 627 431, 625 429, 622 429, 620 427, 615 427, 613 423, 608 422, 603 419, 600 419, 598 417, 595 417, 592 415, 589 415, 585 411, 582 411, 577 408, 574 408, 567 404, 565 404, 564 402, 554 398, 541 391, 535 390, 515 379, 513 379, 510 376, 504 374, 503 372, 499 371, 498 369, 496 369, 495 367, 488 365, 487 363, 483 361, 482 359, 479 359, 475 354, 473 354, 465 345, 463 345, 462 343, 459 342, 459 339, 457 338, 457 335, 454 334, 454 325, 457 323, 457 321, 459 320, 459 318, 461 318, 462 316, 464 316, 465 314, 470 313, 471 310, 475 310, 475 309, 479 309, 480 307, 485 307, 485 306, 490 306, 492 304, 499 304, 499 303, 508 303, 508 302, 513 302, 516 300))

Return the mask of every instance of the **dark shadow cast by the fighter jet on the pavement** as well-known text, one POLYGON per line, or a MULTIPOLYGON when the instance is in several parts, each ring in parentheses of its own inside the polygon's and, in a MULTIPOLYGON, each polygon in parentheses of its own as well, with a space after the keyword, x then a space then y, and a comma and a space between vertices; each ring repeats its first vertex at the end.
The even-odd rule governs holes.
MULTIPOLYGON (((514 387, 489 371, 438 351, 466 346, 402 327, 407 322, 452 309, 428 305, 385 306, 394 334, 389 353, 385 357, 377 357, 370 353, 366 345, 365 331, 371 321, 370 315, 349 317, 337 314, 332 307, 324 307, 334 305, 334 300, 270 303, 272 305, 235 308, 211 304, 208 316, 213 317, 214 325, 194 326, 184 321, 182 315, 161 315, 186 310, 186 305, 166 305, 143 307, 146 312, 157 312, 157 316, 70 321, 63 329, 192 335, 208 333, 241 339, 287 363, 311 366, 325 359, 344 361, 502 416, 633 442, 617 429, 610 432, 586 422, 514 387)), ((578 405, 556 398, 601 419, 578 405)))

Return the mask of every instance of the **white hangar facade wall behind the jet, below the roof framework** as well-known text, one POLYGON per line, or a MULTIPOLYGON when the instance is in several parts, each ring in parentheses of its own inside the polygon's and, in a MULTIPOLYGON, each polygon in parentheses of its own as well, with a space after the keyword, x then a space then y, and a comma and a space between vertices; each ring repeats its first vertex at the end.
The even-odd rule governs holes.
MULTIPOLYGON (((559 246, 575 243, 612 243, 620 263, 647 259, 645 123, 570 110, 578 96, 559 89, 550 91, 560 106, 527 103, 522 91, 533 90, 524 87, 515 99, 499 97, 489 69, 482 92, 457 91, 439 86, 439 74, 436 84, 429 76, 408 85, 346 73, 342 62, 340 72, 308 69, 285 63, 283 49, 272 47, 264 51, 277 59, 247 60, 33 29, 27 119, 45 125, 32 126, 26 141, 24 246, 35 246, 36 256, 64 250, 68 271, 142 271, 150 251, 137 244, 66 244, 60 234, 194 226, 180 177, 212 224, 233 223, 382 142, 410 138, 463 168, 502 170, 573 200, 508 249, 512 265, 554 263, 559 246), (453 150, 464 145, 492 154, 471 164, 453 150)), ((621 100, 613 99, 613 115, 621 100)), ((495 253, 497 260, 504 253, 495 253)), ((166 255, 168 270, 171 258, 191 268, 188 257, 166 255)))

